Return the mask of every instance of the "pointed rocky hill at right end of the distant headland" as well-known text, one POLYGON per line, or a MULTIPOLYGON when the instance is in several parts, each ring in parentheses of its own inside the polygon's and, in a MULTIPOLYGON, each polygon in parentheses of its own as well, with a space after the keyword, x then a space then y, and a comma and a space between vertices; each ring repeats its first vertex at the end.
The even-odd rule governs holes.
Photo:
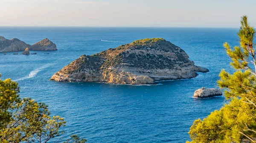
POLYGON ((56 48, 56 45, 47 38, 33 44, 29 49, 30 50, 58 50, 56 48))

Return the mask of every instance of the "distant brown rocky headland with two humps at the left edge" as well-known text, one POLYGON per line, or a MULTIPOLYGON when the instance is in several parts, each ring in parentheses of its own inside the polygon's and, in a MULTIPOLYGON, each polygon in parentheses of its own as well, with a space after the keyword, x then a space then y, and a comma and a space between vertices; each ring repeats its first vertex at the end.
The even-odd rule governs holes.
POLYGON ((0 36, 0 52, 24 51, 26 48, 29 50, 58 50, 56 45, 47 38, 29 45, 17 38, 9 40, 0 36))

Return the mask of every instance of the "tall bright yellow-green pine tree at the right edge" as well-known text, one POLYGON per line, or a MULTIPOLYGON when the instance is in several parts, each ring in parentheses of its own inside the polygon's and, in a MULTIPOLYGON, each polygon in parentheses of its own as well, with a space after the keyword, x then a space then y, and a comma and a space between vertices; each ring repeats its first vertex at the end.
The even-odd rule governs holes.
POLYGON ((218 85, 225 89, 228 104, 212 112, 204 120, 195 120, 187 143, 256 143, 256 45, 255 30, 241 17, 240 46, 225 42, 227 55, 236 70, 222 70, 218 85))

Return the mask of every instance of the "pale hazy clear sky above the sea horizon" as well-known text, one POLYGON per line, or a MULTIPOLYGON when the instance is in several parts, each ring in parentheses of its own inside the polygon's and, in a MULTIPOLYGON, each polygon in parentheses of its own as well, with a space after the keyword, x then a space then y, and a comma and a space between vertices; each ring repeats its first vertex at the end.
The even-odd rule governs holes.
POLYGON ((256 0, 0 0, 0 26, 256 26, 256 0))

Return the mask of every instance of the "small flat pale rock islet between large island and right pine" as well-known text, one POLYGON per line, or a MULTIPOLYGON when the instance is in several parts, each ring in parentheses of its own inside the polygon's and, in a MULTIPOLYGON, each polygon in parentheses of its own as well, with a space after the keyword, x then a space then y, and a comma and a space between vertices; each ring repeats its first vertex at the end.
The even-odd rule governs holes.
POLYGON ((205 87, 195 90, 195 93, 194 93, 195 98, 209 98, 209 97, 221 96, 221 95, 222 95, 221 90, 217 88, 206 89, 205 87))

